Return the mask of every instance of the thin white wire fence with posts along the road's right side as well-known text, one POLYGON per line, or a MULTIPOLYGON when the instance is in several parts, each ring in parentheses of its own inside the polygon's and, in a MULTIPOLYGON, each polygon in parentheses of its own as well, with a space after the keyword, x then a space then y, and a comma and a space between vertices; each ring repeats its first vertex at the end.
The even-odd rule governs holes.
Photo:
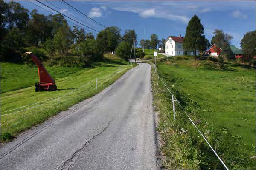
MULTIPOLYGON (((173 113, 174 113, 174 120, 176 121, 176 115, 175 115, 175 103, 178 103, 178 105, 180 106, 180 108, 182 109, 182 111, 184 113, 186 113, 186 111, 184 110, 184 108, 182 107, 182 105, 180 105, 180 102, 176 99, 176 97, 174 96, 174 94, 172 93, 172 91, 169 90, 169 88, 166 86, 166 84, 163 82, 163 79, 161 79, 161 77, 159 76, 159 74, 157 74, 157 67, 156 64, 153 64, 154 66, 154 74, 153 76, 157 75, 157 86, 159 83, 159 79, 160 81, 163 83, 163 85, 166 87, 166 89, 169 91, 169 93, 172 95, 172 106, 173 106, 173 113)), ((201 131, 198 129, 198 127, 195 125, 195 123, 192 121, 192 119, 189 117, 189 115, 186 113, 186 116, 189 118, 190 122, 192 122, 192 124, 194 125, 194 127, 198 130, 198 132, 200 133, 200 135, 204 138, 205 142, 207 142, 207 144, 209 145, 209 147, 212 149, 213 153, 215 153, 215 155, 218 157, 218 159, 221 161, 221 163, 223 164, 223 166, 228 170, 226 164, 222 161, 222 159, 218 156, 218 153, 216 153, 216 151, 212 148, 212 146, 209 144, 209 142, 207 141, 207 139, 204 137, 204 135, 201 133, 201 131)))

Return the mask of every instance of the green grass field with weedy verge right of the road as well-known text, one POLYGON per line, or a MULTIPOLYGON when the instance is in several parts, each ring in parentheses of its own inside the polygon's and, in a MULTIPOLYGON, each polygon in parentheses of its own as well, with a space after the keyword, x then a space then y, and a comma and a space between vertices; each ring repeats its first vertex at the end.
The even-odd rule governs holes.
MULTIPOLYGON (((230 169, 255 169, 255 69, 226 63, 207 69, 193 59, 157 62, 157 73, 230 169)), ((224 169, 157 77, 152 78, 158 131, 168 169, 224 169)))

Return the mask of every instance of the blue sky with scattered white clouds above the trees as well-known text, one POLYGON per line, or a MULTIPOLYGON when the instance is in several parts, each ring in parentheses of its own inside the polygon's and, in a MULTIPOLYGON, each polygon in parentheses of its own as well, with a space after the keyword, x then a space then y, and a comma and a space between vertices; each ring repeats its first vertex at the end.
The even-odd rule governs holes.
MULTIPOLYGON (((19 2, 24 8, 29 9, 29 11, 37 9, 40 14, 57 14, 54 10, 37 1, 31 2, 48 11, 27 0, 15 1, 19 2)), ((214 30, 222 29, 225 33, 233 37, 231 44, 241 48, 240 40, 244 34, 256 29, 255 0, 65 1, 103 26, 93 22, 61 1, 40 0, 40 2, 97 31, 105 29, 103 26, 117 26, 121 29, 121 34, 127 29, 134 29, 138 42, 143 39, 143 36, 145 36, 145 39, 150 39, 151 34, 157 34, 160 40, 162 38, 166 39, 168 36, 179 36, 179 34, 181 34, 181 37, 184 37, 187 24, 194 15, 197 15, 201 20, 201 24, 204 26, 204 35, 210 42, 214 35, 214 30), (145 35, 143 34, 144 29, 145 35)), ((76 23, 68 18, 67 20, 70 26, 76 23)), ((86 28, 86 32, 92 32, 94 35, 97 34, 96 31, 90 28, 82 26, 79 23, 76 24, 82 28, 86 28)))

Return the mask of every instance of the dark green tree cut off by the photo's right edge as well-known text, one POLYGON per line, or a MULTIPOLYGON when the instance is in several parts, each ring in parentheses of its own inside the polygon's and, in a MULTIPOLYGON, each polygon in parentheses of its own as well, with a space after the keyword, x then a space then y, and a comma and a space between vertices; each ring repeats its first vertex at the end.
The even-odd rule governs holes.
MULTIPOLYGON (((249 60, 250 66, 251 66, 253 57, 256 55, 255 33, 256 33, 256 30, 247 32, 240 42, 242 50, 248 55, 247 59, 249 60)), ((254 67, 256 67, 255 61, 254 61, 254 67)))

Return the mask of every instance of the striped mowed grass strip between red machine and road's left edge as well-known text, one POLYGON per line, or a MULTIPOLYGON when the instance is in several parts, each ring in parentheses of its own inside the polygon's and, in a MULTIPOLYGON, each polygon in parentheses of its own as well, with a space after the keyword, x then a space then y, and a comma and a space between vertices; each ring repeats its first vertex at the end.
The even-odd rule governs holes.
MULTIPOLYGON (((60 111, 67 110, 70 106, 99 93, 134 67, 123 63, 119 65, 100 62, 93 68, 80 69, 70 76, 55 79, 57 91, 35 92, 35 87, 30 86, 1 93, 1 142, 9 141, 23 130, 44 122, 60 111), (97 89, 96 78, 98 78, 97 89), (26 105, 30 106, 23 107, 26 105)), ((55 76, 51 72, 50 74, 52 77, 55 76)), ((8 87, 8 82, 5 83, 7 85, 4 86, 8 87)))

